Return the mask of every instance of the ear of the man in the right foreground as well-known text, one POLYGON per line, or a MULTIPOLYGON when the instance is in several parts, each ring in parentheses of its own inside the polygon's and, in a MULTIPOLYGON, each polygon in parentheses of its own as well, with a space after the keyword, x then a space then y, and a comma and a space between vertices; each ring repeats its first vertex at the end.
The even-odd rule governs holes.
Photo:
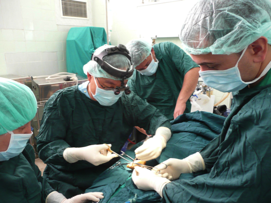
POLYGON ((251 54, 253 62, 259 63, 264 61, 267 53, 267 46, 267 39, 265 37, 260 37, 249 45, 249 53, 251 54))

